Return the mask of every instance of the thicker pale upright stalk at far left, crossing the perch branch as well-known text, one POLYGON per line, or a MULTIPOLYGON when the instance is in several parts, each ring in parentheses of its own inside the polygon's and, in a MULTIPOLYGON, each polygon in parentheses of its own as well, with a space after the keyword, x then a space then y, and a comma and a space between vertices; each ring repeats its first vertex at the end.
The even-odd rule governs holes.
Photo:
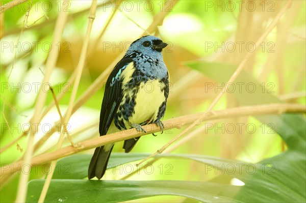
MULTIPOLYGON (((56 43, 61 41, 61 36, 62 32, 64 30, 64 25, 67 19, 67 12, 64 12, 63 10, 60 11, 57 23, 56 23, 56 29, 55 33, 53 36, 53 41, 52 41, 52 46, 56 46, 56 43)), ((52 49, 49 52, 47 61, 46 61, 46 66, 45 66, 45 74, 44 78, 42 80, 42 84, 45 84, 46 82, 49 81, 50 75, 55 67, 57 57, 58 57, 58 51, 56 49, 52 49)), ((46 93, 42 92, 40 89, 37 95, 37 100, 36 100, 36 105, 35 105, 35 110, 34 110, 34 115, 33 118, 31 119, 31 125, 39 123, 39 118, 40 118, 40 113, 44 107, 44 103, 46 100, 46 93)), ((33 126, 32 126, 33 127, 33 126)), ((22 161, 22 164, 28 165, 32 163, 32 154, 34 150, 34 135, 35 132, 31 131, 29 134, 29 140, 28 140, 28 148, 25 151, 24 154, 24 159, 22 161)), ((19 184, 18 184, 18 192, 17 192, 17 197, 16 197, 16 202, 24 202, 25 201, 25 196, 27 194, 27 183, 29 180, 29 174, 27 173, 21 173, 19 184)))

